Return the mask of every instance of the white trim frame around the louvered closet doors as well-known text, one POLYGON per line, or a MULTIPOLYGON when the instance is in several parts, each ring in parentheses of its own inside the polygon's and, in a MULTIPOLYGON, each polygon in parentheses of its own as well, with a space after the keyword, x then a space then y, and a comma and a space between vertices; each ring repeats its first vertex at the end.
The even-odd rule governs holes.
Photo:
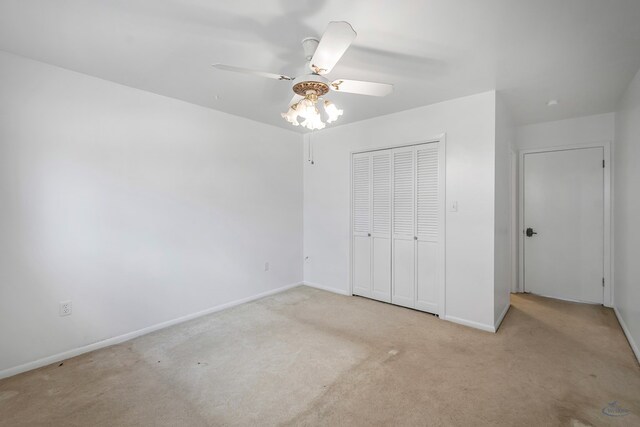
MULTIPOLYGON (((394 148, 411 147, 422 144, 438 143, 438 236, 441 237, 438 241, 438 266, 440 271, 438 272, 438 313, 441 319, 446 317, 446 153, 447 153, 447 141, 446 133, 433 136, 431 138, 425 138, 420 141, 384 145, 384 146, 372 146, 363 147, 357 150, 353 150, 349 153, 349 295, 353 295, 353 156, 359 153, 368 153, 373 151, 389 150, 394 148)), ((393 210, 391 212, 391 225, 393 227, 393 210)), ((392 229, 393 230, 393 229, 392 229)), ((393 245, 391 248, 391 260, 393 260, 393 245)), ((392 284, 393 286, 393 284, 392 284)))

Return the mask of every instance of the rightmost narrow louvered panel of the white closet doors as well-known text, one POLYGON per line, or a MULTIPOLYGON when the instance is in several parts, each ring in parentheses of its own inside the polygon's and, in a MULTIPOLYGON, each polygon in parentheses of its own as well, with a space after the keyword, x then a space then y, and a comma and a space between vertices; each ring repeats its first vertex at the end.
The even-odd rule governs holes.
POLYGON ((416 147, 416 306, 438 313, 438 143, 416 147))

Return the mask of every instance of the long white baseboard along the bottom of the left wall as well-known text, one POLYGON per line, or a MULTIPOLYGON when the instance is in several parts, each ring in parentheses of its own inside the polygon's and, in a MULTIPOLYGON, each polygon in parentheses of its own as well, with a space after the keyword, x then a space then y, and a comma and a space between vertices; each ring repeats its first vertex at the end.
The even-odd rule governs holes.
POLYGON ((21 374, 23 372, 31 371, 33 369, 41 368, 43 366, 50 365, 52 363, 60 362, 62 360, 70 359, 75 356, 79 356, 84 353, 88 353, 90 351, 98 350, 100 348, 109 347, 111 345, 120 344, 125 341, 129 341, 131 339, 137 338, 142 335, 149 334, 151 332, 155 332, 160 329, 168 328, 169 326, 177 325, 179 323, 187 322, 189 320, 196 319, 198 317, 206 316, 207 314, 215 313, 217 311, 222 311, 227 308, 235 307, 240 304, 244 304, 247 302, 255 301, 260 298, 264 298, 269 295, 277 294, 280 292, 284 292, 288 289, 295 288, 297 286, 302 285, 303 283, 294 283, 291 285, 282 286, 280 288, 272 289, 270 291, 261 292, 256 295, 252 295, 250 297, 241 298, 239 300, 227 302, 224 304, 216 305, 215 307, 208 308, 206 310, 198 311, 196 313, 188 314, 186 316, 178 317, 176 319, 167 320, 166 322, 161 322, 152 326, 148 326, 146 328, 138 329, 137 331, 129 332, 124 335, 119 335, 117 337, 107 338, 106 340, 98 341, 93 344, 85 345, 82 347, 74 348, 71 350, 64 351, 62 353, 54 354, 52 356, 43 357, 42 359, 34 360, 32 362, 27 362, 22 365, 15 366, 13 368, 8 368, 0 371, 0 379, 11 377, 13 375, 21 374))

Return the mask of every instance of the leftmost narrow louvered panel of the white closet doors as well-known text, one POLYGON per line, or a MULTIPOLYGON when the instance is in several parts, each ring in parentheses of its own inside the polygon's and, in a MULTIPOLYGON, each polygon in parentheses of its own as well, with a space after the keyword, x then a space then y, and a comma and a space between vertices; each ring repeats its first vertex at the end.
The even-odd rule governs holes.
POLYGON ((353 294, 371 297, 371 153, 353 155, 353 294))

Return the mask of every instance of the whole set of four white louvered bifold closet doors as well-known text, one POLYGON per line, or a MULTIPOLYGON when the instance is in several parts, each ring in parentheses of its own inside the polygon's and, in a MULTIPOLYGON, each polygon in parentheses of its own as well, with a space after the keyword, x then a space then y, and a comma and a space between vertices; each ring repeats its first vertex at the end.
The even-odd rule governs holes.
POLYGON ((439 142, 352 158, 352 293, 439 314, 439 142))

